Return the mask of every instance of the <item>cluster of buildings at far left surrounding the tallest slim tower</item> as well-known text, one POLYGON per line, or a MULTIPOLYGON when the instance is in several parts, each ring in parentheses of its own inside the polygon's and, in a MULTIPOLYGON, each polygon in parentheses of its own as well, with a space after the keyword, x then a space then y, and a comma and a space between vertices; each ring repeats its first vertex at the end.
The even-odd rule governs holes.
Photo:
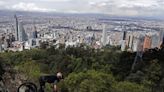
POLYGON ((24 29, 24 24, 19 21, 17 16, 15 18, 15 27, 11 32, 5 32, 0 35, 0 52, 2 51, 23 51, 24 49, 31 49, 39 46, 39 39, 37 39, 37 31, 33 30, 27 34, 24 29))

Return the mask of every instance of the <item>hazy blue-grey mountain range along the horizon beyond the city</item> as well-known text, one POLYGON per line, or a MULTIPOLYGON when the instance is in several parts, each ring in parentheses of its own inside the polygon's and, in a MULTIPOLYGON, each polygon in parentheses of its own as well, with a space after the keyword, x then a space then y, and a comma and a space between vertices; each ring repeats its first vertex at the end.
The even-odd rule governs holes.
POLYGON ((62 16, 62 17, 93 17, 93 18, 100 18, 100 19, 123 19, 123 20, 158 20, 164 21, 161 16, 156 17, 127 17, 127 16, 110 16, 107 14, 98 14, 98 13, 60 13, 60 12, 29 12, 29 11, 11 11, 11 10, 0 10, 0 16, 14 16, 17 15, 25 15, 25 16, 62 16))

